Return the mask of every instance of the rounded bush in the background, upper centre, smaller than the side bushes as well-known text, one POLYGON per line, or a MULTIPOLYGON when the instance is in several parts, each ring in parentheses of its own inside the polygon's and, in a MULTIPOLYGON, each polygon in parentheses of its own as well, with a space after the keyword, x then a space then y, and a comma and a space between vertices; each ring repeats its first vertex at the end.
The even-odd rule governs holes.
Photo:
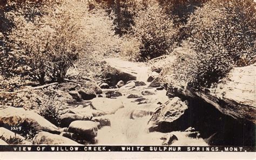
POLYGON ((158 5, 138 11, 137 17, 134 18, 132 36, 142 43, 141 60, 156 58, 172 50, 177 34, 172 22, 158 5))

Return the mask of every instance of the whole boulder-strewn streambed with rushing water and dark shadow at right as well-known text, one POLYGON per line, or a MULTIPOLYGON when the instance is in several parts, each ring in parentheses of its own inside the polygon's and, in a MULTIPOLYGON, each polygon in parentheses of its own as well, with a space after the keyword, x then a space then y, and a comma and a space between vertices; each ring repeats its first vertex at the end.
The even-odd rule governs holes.
POLYGON ((221 112, 185 87, 152 85, 160 75, 143 64, 105 63, 102 84, 54 88, 63 101, 58 123, 36 110, 1 106, 0 144, 254 145, 252 121, 221 112))

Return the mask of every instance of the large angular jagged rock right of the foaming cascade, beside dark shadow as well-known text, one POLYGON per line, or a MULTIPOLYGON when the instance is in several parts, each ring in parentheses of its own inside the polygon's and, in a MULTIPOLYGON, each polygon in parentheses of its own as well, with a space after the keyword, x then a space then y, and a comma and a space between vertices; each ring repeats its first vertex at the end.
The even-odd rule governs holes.
POLYGON ((184 113, 188 109, 187 105, 179 98, 173 98, 160 106, 152 115, 148 125, 149 131, 171 132, 181 130, 180 121, 184 119, 184 113))

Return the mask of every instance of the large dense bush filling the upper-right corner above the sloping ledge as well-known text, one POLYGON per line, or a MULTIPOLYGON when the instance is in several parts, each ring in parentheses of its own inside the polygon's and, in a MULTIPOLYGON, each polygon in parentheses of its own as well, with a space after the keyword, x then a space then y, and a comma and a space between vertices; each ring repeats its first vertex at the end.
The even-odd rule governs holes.
POLYGON ((211 87, 234 66, 255 57, 255 3, 251 0, 208 2, 187 23, 188 45, 197 52, 186 77, 193 87, 211 87))

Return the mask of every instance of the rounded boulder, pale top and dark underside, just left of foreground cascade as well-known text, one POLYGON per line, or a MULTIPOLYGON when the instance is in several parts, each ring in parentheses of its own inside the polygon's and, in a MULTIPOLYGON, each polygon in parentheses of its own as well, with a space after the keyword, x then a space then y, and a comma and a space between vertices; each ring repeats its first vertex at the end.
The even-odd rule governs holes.
POLYGON ((98 133, 98 126, 98 122, 73 121, 69 125, 68 131, 82 137, 96 137, 98 133))

